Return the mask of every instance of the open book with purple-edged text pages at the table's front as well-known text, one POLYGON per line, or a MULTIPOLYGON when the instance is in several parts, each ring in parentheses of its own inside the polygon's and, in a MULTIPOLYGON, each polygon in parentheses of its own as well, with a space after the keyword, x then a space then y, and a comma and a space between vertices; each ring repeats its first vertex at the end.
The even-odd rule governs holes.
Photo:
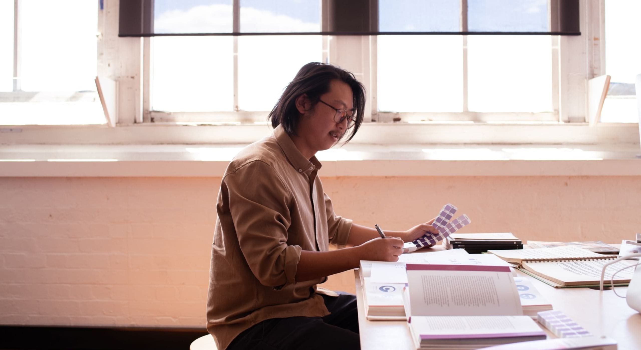
POLYGON ((407 264, 408 327, 417 349, 478 349, 545 339, 523 315, 510 267, 407 264))

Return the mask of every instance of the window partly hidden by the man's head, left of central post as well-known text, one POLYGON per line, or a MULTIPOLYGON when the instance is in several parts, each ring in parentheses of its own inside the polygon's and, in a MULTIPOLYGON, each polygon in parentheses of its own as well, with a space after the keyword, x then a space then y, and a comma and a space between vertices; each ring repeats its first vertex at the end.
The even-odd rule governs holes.
MULTIPOLYGON (((154 31, 231 32, 232 10, 231 1, 156 1, 154 31), (222 20, 213 27, 212 18, 222 20)), ((242 0, 239 25, 253 33, 320 31, 320 2, 242 0)), ((322 60, 320 35, 156 36, 151 44, 154 122, 265 121, 298 69, 322 60), (235 111, 262 113, 215 113, 235 111)))

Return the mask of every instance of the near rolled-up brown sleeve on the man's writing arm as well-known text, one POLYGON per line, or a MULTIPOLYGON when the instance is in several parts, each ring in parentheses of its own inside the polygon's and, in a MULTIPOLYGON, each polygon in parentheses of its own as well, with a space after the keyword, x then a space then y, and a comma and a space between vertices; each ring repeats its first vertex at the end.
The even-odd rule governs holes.
POLYGON ((287 245, 292 198, 283 180, 268 164, 252 161, 222 183, 240 250, 254 276, 275 289, 296 283, 301 247, 287 245))

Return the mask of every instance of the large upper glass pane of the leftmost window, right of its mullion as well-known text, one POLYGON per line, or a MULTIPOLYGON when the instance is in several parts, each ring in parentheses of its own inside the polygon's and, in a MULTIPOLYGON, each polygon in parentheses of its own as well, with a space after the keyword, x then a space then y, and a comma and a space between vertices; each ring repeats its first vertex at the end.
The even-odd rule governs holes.
POLYGON ((22 90, 96 90, 97 1, 20 2, 22 90))

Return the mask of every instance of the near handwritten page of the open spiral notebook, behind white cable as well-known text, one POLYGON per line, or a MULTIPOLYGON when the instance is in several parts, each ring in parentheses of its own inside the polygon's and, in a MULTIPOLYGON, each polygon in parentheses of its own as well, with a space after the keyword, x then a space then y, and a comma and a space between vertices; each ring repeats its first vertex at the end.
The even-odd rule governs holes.
MULTIPOLYGON (((551 262, 524 262, 523 267, 535 274, 545 278, 556 279, 562 282, 586 282, 589 284, 599 283, 601 280, 601 270, 605 264, 612 260, 570 260, 570 261, 551 261, 551 262)), ((604 275, 606 283, 612 278, 612 274, 626 266, 637 264, 636 261, 623 260, 616 262, 607 267, 604 275)), ((620 271, 615 276, 617 280, 630 280, 635 273, 635 269, 630 267, 620 271)))

